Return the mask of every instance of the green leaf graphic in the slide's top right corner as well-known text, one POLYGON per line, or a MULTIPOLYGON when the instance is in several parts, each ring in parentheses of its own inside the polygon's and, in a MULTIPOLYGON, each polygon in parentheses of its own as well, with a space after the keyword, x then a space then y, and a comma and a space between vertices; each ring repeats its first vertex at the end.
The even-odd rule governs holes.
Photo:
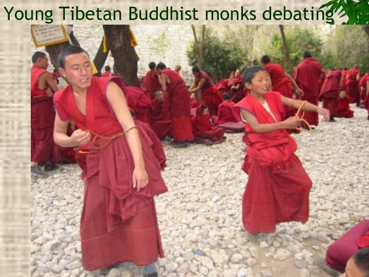
MULTIPOLYGON (((358 0, 331 0, 330 2, 321 5, 319 9, 330 7, 329 11, 341 14, 348 17, 348 21, 342 23, 343 25, 366 25, 369 24, 369 1, 358 0)), ((331 24, 335 24, 334 21, 331 24)))

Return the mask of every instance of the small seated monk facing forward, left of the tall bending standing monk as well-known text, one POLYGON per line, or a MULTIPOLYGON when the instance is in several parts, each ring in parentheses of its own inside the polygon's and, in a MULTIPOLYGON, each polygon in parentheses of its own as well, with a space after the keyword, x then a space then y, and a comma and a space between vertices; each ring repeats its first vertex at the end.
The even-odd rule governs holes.
POLYGON ((171 134, 172 121, 170 117, 170 98, 169 95, 161 90, 155 92, 153 100, 154 110, 151 117, 151 128, 155 134, 162 140, 169 140, 171 134))

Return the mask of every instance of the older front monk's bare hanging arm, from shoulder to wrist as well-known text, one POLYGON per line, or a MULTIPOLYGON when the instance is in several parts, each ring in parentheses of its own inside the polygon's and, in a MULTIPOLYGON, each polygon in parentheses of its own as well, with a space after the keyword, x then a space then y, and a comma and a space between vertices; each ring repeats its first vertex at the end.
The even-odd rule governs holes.
MULTIPOLYGON (((109 82, 108 84, 107 98, 123 130, 127 131, 134 127, 135 123, 128 108, 126 97, 120 87, 114 82, 109 82)), ((142 156, 142 147, 138 130, 136 128, 131 129, 127 132, 126 137, 135 167, 144 168, 144 157, 142 156)))

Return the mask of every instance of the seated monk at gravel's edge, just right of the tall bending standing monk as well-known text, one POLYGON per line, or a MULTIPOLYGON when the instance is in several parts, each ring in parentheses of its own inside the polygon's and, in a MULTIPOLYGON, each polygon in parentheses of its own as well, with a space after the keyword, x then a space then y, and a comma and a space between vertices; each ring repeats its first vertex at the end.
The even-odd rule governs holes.
POLYGON ((197 107, 196 115, 192 117, 192 128, 194 136, 203 140, 217 142, 226 138, 224 130, 212 124, 209 108, 205 105, 197 107))

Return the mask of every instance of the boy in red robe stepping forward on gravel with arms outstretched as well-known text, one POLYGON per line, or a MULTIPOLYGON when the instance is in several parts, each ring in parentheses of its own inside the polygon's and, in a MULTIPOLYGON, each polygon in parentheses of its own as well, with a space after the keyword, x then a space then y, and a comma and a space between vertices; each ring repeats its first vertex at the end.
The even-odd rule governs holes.
MULTIPOLYGON (((309 192, 312 181, 295 155, 294 138, 285 129, 297 128, 297 116, 281 121, 283 105, 298 109, 303 102, 268 91, 268 73, 253 66, 242 74, 250 90, 234 107, 234 114, 245 124, 243 142, 247 144, 242 166, 249 175, 242 197, 242 222, 252 234, 273 233, 280 222, 309 219, 309 192)), ((318 112, 329 119, 329 111, 308 102, 303 110, 318 112)))

